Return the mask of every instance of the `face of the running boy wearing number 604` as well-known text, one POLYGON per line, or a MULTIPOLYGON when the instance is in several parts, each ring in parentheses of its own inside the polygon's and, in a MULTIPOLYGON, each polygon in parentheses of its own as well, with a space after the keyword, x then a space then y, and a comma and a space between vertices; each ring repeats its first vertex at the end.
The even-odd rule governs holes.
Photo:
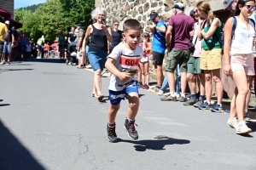
POLYGON ((123 33, 126 43, 132 50, 141 42, 142 33, 142 30, 127 30, 123 33))

